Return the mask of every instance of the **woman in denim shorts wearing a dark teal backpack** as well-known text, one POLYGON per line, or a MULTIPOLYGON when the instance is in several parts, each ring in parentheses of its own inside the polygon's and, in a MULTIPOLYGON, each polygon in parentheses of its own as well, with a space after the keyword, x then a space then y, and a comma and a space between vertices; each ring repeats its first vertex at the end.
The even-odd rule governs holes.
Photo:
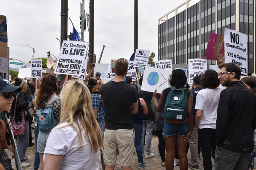
POLYGON ((173 160, 176 144, 178 146, 180 170, 188 169, 186 148, 193 130, 193 95, 189 90, 183 88, 186 82, 187 78, 183 70, 173 70, 169 79, 171 87, 163 90, 159 103, 156 99, 157 90, 153 94, 154 107, 157 112, 160 112, 164 107, 163 136, 167 150, 166 170, 174 169, 173 160), (173 97, 170 98, 170 96, 173 97), (182 105, 179 105, 179 103, 182 103, 182 105))

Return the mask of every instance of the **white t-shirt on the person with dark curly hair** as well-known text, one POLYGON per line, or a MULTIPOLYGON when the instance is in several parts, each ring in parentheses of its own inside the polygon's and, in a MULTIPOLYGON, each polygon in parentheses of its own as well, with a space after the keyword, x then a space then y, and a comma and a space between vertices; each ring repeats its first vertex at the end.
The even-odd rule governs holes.
POLYGON ((203 89, 196 96, 195 109, 203 110, 199 128, 216 129, 217 109, 220 101, 221 91, 225 87, 219 86, 215 89, 203 89))

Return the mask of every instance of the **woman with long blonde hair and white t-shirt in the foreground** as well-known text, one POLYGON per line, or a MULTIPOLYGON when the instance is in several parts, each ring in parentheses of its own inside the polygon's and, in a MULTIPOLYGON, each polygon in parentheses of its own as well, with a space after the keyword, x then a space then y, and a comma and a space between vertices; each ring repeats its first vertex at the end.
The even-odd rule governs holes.
POLYGON ((60 124, 47 140, 44 170, 98 170, 101 148, 90 91, 70 80, 61 91, 60 124))

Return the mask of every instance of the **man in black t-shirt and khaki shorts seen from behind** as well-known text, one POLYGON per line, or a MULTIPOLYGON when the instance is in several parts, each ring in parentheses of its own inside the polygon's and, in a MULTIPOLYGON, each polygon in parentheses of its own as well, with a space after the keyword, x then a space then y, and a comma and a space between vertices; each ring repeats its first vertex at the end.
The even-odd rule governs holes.
POLYGON ((138 97, 134 86, 124 82, 127 71, 127 59, 118 59, 115 63, 115 78, 101 88, 105 107, 106 170, 114 170, 118 153, 122 167, 131 170, 131 165, 134 163, 134 130, 131 114, 136 114, 138 111, 138 97))

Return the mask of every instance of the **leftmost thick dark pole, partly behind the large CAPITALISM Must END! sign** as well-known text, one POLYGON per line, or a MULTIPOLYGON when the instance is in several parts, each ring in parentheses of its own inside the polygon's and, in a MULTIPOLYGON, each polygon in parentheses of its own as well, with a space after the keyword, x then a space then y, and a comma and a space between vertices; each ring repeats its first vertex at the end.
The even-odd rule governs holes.
MULTIPOLYGON (((68 0, 61 0, 61 45, 67 40, 67 18, 68 18, 68 0)), ((65 75, 61 74, 61 81, 65 79, 65 75)))

